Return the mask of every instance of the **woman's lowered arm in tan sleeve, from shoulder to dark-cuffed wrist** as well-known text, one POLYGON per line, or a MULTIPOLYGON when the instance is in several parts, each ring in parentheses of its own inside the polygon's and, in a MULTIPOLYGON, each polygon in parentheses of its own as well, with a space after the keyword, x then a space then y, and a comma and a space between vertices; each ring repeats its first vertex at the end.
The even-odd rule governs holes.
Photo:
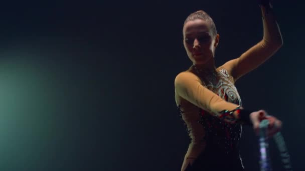
POLYGON ((191 72, 179 73, 175 78, 175 92, 183 99, 209 114, 228 122, 241 121, 249 123, 249 110, 228 102, 202 85, 200 79, 191 72))

